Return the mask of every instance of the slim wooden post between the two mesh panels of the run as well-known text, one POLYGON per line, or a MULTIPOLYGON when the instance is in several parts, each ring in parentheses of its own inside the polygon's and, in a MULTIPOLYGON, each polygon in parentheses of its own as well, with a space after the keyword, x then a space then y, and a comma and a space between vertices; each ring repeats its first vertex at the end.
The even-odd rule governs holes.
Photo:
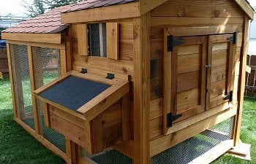
POLYGON ((28 46, 28 55, 29 55, 29 76, 30 76, 30 83, 31 83, 31 97, 32 97, 32 106, 33 106, 33 115, 34 115, 34 128, 36 133, 41 134, 41 126, 39 123, 39 115, 40 112, 37 110, 37 99, 34 95, 35 87, 35 79, 34 79, 34 62, 33 62, 33 54, 32 54, 32 47, 28 46))

